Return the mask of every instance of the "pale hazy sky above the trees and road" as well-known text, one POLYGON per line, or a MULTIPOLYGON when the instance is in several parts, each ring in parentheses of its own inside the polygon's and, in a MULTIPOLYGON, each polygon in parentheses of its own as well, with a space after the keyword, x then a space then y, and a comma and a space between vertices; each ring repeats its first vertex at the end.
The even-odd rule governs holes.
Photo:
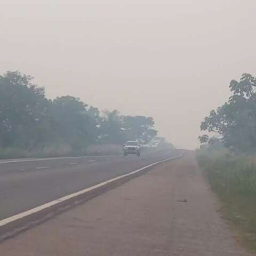
POLYGON ((256 75, 254 0, 0 0, 0 73, 46 95, 153 116, 159 135, 195 148, 231 79, 256 75))

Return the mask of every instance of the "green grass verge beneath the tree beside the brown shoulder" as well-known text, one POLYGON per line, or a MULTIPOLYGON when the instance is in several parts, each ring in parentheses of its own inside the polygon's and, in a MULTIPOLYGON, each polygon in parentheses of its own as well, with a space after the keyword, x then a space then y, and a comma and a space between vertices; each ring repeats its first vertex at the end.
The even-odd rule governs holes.
POLYGON ((256 252, 256 165, 252 156, 197 151, 197 162, 222 202, 223 217, 256 252))

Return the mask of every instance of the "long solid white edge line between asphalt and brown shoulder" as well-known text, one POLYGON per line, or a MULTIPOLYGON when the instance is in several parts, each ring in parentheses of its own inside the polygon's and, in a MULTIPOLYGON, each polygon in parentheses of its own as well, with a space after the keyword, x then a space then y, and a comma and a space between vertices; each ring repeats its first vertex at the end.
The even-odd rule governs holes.
POLYGON ((9 224, 9 223, 11 223, 11 222, 13 222, 13 221, 19 220, 19 219, 21 219, 21 218, 27 217, 27 216, 29 216, 29 215, 31 215, 31 214, 33 214, 33 213, 40 212, 40 211, 42 211, 42 210, 44 210, 44 209, 47 209, 47 208, 49 208, 49 207, 51 207, 51 206, 53 206, 53 205, 57 205, 57 204, 59 204, 59 203, 61 203, 61 202, 67 201, 68 199, 71 199, 71 198, 74 198, 74 197, 76 197, 76 196, 85 194, 85 193, 87 193, 87 192, 89 192, 89 191, 92 191, 92 190, 94 190, 94 189, 96 189, 96 188, 105 186, 105 185, 107 185, 107 184, 109 184, 109 183, 111 183, 111 182, 113 182, 113 181, 122 179, 122 178, 124 178, 124 177, 128 177, 128 176, 130 176, 130 175, 132 175, 132 174, 141 172, 141 171, 143 171, 143 170, 146 170, 146 169, 148 169, 148 168, 150 168, 150 167, 153 167, 153 166, 155 166, 155 165, 157 165, 157 164, 161 164, 161 163, 164 163, 164 162, 173 160, 173 159, 180 158, 180 157, 183 156, 184 153, 185 153, 185 150, 184 150, 179 156, 172 157, 172 158, 168 158, 168 159, 165 159, 165 160, 163 160, 163 161, 159 161, 159 162, 156 162, 156 163, 153 163, 153 164, 149 164, 149 165, 147 165, 147 166, 145 166, 145 167, 142 167, 141 169, 135 170, 135 171, 130 172, 130 173, 127 173, 127 174, 123 174, 123 175, 121 175, 121 176, 118 176, 118 177, 113 178, 113 179, 110 179, 110 180, 103 181, 103 182, 101 182, 101 183, 99 183, 99 184, 97 184, 97 185, 95 185, 95 186, 90 187, 90 188, 86 188, 86 189, 80 190, 80 191, 78 191, 78 192, 76 192, 76 193, 73 193, 73 194, 70 194, 70 195, 61 197, 61 198, 59 198, 59 199, 55 199, 55 200, 53 200, 53 201, 51 201, 51 202, 49 202, 49 203, 46 203, 46 204, 43 204, 43 205, 40 205, 40 206, 37 206, 37 207, 35 207, 35 208, 31 209, 31 210, 28 210, 28 211, 26 211, 26 212, 22 212, 22 213, 13 215, 12 217, 3 219, 3 220, 0 221, 0 227, 2 227, 2 226, 4 226, 4 225, 7 225, 7 224, 9 224))

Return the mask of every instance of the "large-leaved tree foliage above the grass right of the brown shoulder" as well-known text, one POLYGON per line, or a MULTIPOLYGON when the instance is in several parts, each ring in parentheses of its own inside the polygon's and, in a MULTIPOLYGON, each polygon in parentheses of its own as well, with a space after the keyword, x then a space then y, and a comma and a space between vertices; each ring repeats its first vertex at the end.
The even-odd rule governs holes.
POLYGON ((201 130, 219 134, 219 138, 208 134, 199 136, 201 143, 221 142, 236 151, 256 149, 256 78, 244 73, 239 81, 229 85, 231 96, 201 123, 201 130))

